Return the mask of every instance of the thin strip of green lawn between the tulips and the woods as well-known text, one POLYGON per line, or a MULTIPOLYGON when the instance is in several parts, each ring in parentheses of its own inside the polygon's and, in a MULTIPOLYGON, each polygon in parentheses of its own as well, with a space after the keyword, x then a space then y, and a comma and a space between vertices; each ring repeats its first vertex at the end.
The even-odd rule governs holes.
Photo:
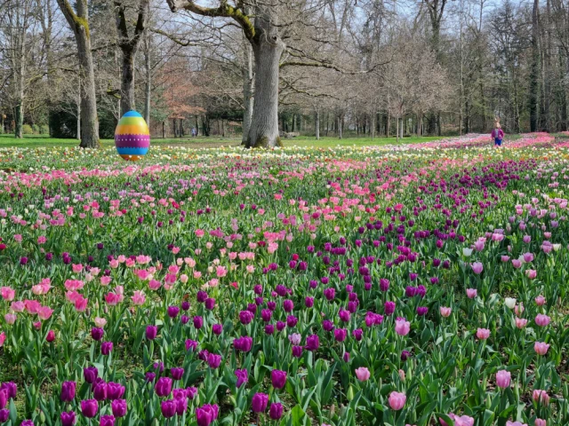
MULTIPOLYGON (((430 140, 439 139, 438 137, 424 137, 424 138, 403 138, 400 139, 400 144, 416 144, 418 142, 429 142, 430 140)), ((301 136, 299 138, 283 139, 284 146, 319 146, 319 147, 333 147, 333 146, 380 146, 380 145, 395 145, 397 144, 396 138, 333 138, 323 137, 316 140, 314 137, 301 136)), ((112 139, 102 139, 103 146, 113 146, 112 139)), ((241 138, 166 138, 152 139, 153 145, 174 145, 174 146, 188 146, 188 147, 207 147, 207 146, 237 146, 241 144, 241 138)), ((9 146, 78 146, 79 142, 76 139, 60 139, 50 138, 47 135, 25 135, 23 139, 14 138, 11 134, 0 135, 0 147, 9 146)))

